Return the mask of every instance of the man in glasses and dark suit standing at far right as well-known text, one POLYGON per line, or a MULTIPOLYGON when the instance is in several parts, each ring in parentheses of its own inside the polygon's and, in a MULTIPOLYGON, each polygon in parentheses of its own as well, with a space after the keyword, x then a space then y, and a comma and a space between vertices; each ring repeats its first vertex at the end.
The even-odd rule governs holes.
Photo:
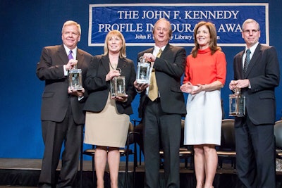
POLYGON ((280 80, 273 46, 259 44, 259 23, 242 25, 246 47, 234 57, 234 80, 229 88, 245 95, 245 116, 235 117, 237 173, 245 187, 276 187, 274 89, 280 80), (250 50, 250 51, 249 51, 250 50))

